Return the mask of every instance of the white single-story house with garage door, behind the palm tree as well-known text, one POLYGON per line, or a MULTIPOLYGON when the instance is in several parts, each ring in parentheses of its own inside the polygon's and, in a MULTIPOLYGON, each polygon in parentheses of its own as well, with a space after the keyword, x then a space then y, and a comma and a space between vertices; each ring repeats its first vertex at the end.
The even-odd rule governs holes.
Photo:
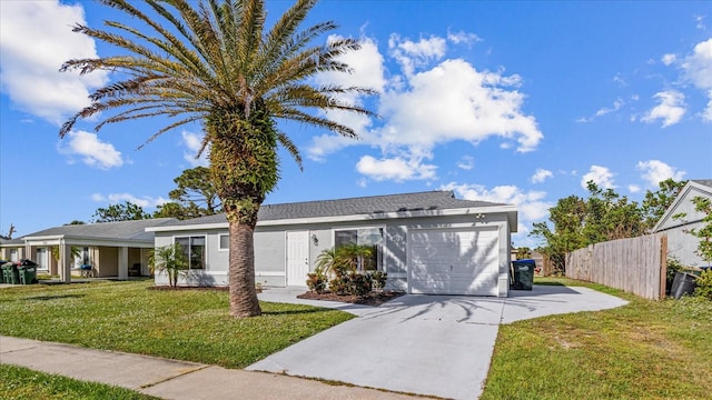
MULTIPOLYGON (((387 288, 409 293, 507 296, 515 206, 455 199, 452 191, 265 204, 255 230, 255 276, 265 286, 305 286, 325 249, 374 246, 369 264, 387 288)), ((225 214, 147 229, 156 247, 181 243, 189 271, 179 284, 228 284, 225 214)), ((165 273, 157 284, 168 284, 165 273)))

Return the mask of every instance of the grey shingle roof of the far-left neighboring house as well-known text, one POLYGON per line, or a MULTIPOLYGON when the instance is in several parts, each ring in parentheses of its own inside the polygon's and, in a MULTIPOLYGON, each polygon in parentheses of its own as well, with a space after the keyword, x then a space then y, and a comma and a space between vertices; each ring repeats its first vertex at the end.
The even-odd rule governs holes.
POLYGON ((152 241, 154 233, 146 232, 146 228, 171 224, 176 221, 178 220, 175 218, 157 218, 137 221, 62 226, 27 234, 23 238, 63 236, 66 238, 152 241))

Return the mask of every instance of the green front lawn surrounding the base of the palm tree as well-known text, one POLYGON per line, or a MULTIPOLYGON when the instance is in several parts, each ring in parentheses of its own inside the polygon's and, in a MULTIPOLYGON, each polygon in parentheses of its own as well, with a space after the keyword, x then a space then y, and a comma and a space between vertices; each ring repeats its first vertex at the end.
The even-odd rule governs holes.
POLYGON ((152 281, 33 284, 0 290, 0 334, 245 368, 353 316, 263 302, 228 316, 227 291, 147 290, 152 281))

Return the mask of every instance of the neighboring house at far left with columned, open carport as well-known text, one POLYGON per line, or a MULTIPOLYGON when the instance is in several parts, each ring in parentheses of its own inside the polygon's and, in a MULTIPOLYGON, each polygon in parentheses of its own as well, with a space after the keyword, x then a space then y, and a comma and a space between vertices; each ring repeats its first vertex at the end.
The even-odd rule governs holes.
MULTIPOLYGON (((37 262, 39 271, 70 280, 71 270, 82 264, 93 268, 95 277, 126 279, 149 276, 148 252, 154 234, 146 229, 177 220, 172 218, 137 221, 71 224, 44 229, 20 239, 24 257, 37 262), (52 252, 52 248, 56 248, 52 252), (79 250, 72 259, 71 248, 79 250)), ((4 244, 3 244, 4 247, 4 244)))

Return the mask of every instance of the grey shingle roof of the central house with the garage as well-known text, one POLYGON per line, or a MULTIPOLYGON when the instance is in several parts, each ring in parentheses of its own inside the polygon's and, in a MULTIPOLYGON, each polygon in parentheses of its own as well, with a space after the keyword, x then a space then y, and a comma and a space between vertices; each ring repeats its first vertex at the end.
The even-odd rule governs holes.
MULTIPOLYGON (((403 211, 447 210, 475 207, 506 206, 487 201, 456 199, 453 191, 372 196, 338 200, 319 200, 284 204, 263 204, 258 220, 378 214, 403 211)), ((210 224, 226 222, 225 214, 208 216, 170 223, 169 226, 210 224)))

